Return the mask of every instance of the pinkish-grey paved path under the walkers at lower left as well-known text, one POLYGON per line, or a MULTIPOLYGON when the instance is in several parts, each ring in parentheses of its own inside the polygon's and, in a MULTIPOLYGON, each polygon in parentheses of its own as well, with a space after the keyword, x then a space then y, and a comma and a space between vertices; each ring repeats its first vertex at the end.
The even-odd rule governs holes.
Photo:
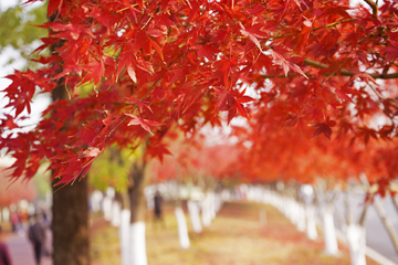
MULTIPOLYGON (((51 240, 50 231, 48 231, 49 237, 51 240)), ((24 234, 10 235, 4 242, 9 246, 13 265, 35 265, 33 246, 24 234)), ((43 256, 40 265, 52 265, 52 261, 43 256)))

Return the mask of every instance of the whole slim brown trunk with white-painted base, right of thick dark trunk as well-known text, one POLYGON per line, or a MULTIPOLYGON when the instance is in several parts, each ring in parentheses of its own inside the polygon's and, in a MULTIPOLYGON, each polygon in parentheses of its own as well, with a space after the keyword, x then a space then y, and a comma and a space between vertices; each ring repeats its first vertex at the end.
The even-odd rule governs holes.
POLYGON ((133 187, 128 189, 130 199, 130 257, 132 265, 147 265, 145 242, 145 163, 135 162, 130 176, 133 187))

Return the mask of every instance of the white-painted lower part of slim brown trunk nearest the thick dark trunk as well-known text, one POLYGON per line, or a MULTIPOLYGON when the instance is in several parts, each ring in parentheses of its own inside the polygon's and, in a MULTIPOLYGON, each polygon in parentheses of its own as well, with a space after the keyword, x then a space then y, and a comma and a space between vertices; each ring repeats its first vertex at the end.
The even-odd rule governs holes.
POLYGON ((145 242, 145 222, 130 224, 130 245, 129 255, 130 265, 147 265, 146 242, 145 242))

